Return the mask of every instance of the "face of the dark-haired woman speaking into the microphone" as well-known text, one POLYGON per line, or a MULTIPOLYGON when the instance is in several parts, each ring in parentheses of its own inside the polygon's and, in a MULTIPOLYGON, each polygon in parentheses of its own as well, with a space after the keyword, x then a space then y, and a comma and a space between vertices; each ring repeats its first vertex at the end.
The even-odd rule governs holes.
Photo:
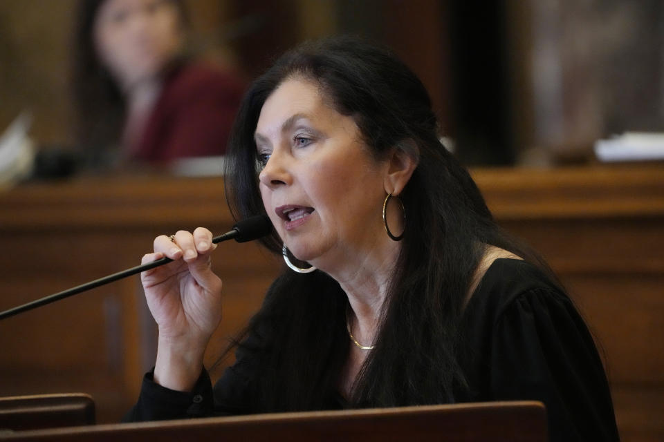
POLYGON ((389 166, 371 157, 353 119, 331 108, 315 83, 284 81, 261 109, 255 140, 263 204, 295 257, 331 268, 387 238, 389 166))

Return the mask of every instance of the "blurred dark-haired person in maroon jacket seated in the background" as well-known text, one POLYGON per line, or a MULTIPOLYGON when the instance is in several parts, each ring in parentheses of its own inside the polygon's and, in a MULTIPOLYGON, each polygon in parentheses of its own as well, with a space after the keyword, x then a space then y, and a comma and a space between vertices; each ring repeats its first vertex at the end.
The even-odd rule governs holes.
POLYGON ((81 0, 73 93, 93 166, 223 155, 241 81, 190 53, 181 0, 81 0))

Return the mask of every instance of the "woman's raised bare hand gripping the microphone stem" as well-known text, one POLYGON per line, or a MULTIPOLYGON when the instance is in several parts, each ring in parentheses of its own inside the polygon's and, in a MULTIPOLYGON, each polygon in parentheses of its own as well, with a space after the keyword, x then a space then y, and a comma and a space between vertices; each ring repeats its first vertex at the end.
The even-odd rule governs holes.
POLYGON ((199 227, 178 231, 174 240, 158 236, 152 262, 174 260, 141 273, 147 305, 159 327, 154 381, 172 390, 190 390, 201 374, 203 354, 221 321, 221 279, 210 268, 212 233, 199 227))

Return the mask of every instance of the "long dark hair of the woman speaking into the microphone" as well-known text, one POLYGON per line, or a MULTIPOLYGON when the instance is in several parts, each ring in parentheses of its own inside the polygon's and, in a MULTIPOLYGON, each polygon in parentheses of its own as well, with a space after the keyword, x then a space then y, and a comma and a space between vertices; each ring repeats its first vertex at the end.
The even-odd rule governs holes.
MULTIPOLYGON (((407 223, 382 311, 376 348, 353 387, 352 405, 446 403, 465 385, 457 361, 463 300, 486 244, 540 264, 494 222, 468 172, 439 141, 421 81, 389 50, 361 39, 306 43, 277 60, 243 100, 228 151, 225 189, 236 218, 265 213, 254 132, 261 107, 284 80, 311 79, 336 111, 352 117, 376 158, 392 148, 418 155, 400 195, 407 223)), ((264 245, 279 253, 275 232, 264 245)), ((542 267, 546 267, 543 263, 542 267)), ((239 344, 255 353, 257 412, 315 410, 338 388, 349 351, 348 300, 316 271, 286 270, 268 291, 239 344)))

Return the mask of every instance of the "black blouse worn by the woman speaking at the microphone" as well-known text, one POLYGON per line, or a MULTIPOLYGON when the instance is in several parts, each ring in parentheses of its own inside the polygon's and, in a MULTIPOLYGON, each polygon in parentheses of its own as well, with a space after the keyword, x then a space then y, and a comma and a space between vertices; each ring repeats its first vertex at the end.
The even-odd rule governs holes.
MULTIPOLYGON (((463 314, 459 354, 468 390, 461 402, 535 400, 546 405, 551 441, 618 441, 602 361, 571 300, 537 267, 495 260, 463 314)), ((212 388, 203 372, 192 392, 154 383, 148 373, 125 421, 251 414, 251 356, 237 361, 212 388)), ((329 407, 346 407, 330 394, 329 407)))

